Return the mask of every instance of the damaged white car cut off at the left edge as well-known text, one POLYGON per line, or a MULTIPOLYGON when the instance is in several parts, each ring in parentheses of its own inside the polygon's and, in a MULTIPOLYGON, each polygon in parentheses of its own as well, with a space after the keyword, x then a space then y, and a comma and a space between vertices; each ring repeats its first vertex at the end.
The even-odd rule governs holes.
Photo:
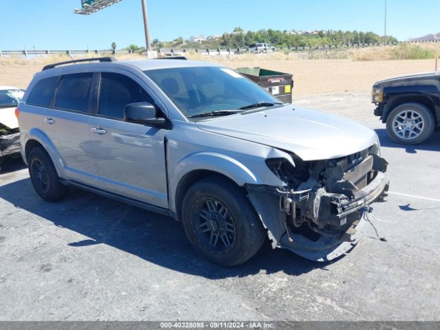
POLYGON ((20 155, 20 133, 16 109, 24 90, 0 86, 0 164, 5 157, 20 155))

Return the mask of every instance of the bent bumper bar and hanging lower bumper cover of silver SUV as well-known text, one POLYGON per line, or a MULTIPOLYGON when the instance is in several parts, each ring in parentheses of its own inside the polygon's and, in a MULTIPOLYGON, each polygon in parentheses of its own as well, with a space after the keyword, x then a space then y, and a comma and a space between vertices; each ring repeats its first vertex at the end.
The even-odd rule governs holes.
POLYGON ((377 173, 371 183, 355 192, 355 197, 338 206, 338 218, 347 217, 353 212, 360 212, 360 220, 354 221, 351 227, 339 236, 320 236, 317 241, 311 241, 301 234, 283 234, 280 248, 291 250, 306 259, 313 261, 331 261, 342 254, 349 252, 362 237, 362 228, 365 225, 364 212, 369 204, 377 200, 388 191, 389 181, 385 173, 377 173))

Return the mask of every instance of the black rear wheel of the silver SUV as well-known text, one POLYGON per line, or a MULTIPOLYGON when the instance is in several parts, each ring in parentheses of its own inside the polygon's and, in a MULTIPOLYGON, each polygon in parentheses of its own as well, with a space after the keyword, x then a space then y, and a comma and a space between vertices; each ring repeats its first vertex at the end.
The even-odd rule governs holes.
POLYGON ((29 154, 29 175, 41 198, 58 201, 67 195, 67 186, 61 184, 52 159, 41 146, 33 148, 29 154))

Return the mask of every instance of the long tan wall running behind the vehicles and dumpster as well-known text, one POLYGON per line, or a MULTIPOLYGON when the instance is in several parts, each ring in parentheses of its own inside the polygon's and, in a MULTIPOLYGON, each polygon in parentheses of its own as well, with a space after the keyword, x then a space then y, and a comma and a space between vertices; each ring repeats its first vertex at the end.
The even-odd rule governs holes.
MULTIPOLYGON (((377 80, 417 72, 433 72, 435 60, 351 61, 294 60, 284 54, 243 54, 240 56, 189 56, 227 67, 264 67, 294 75, 294 94, 304 96, 342 91, 367 91, 377 80), (311 78, 313 77, 313 78, 311 78)), ((136 58, 139 59, 139 58, 136 58)), ((61 61, 55 58, 54 61, 61 61)), ((63 59, 66 61, 66 58, 63 59)), ((1 66, 0 85, 26 88, 42 65, 1 66)), ((37 61, 38 63, 38 61, 37 61)))

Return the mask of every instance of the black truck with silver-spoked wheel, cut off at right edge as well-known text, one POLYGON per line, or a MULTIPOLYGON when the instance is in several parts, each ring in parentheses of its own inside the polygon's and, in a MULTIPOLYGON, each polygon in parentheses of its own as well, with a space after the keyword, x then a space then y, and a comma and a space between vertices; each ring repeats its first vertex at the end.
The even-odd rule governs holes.
POLYGON ((374 114, 397 143, 421 143, 440 124, 439 72, 382 80, 373 85, 372 94, 374 114))

